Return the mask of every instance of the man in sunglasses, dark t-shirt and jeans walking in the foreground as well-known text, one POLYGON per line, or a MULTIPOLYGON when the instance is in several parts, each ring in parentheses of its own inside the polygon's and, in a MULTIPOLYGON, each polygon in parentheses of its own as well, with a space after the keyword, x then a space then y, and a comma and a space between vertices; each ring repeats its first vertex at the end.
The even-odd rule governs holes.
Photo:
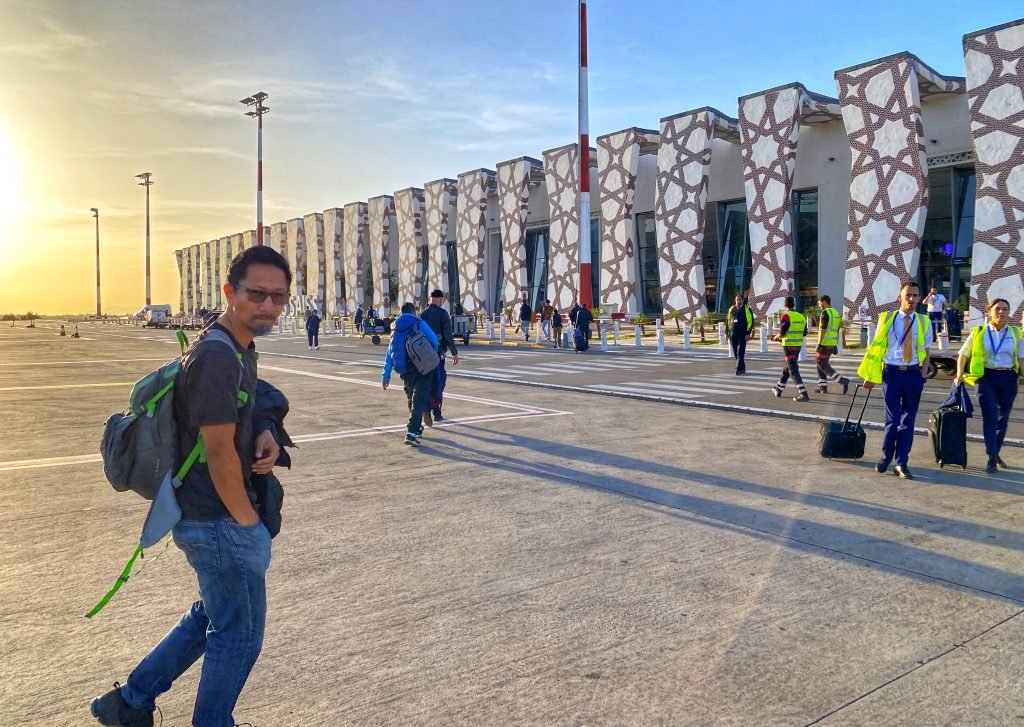
POLYGON ((269 247, 248 248, 230 264, 227 307, 212 326, 223 342, 203 340, 182 361, 175 387, 178 454, 198 437, 204 458, 176 490, 182 519, 174 544, 196 571, 200 598, 129 675, 92 701, 104 725, 152 725, 157 697, 204 655, 193 724, 234 724, 232 711, 263 646, 270 533, 256 511, 252 474, 273 469, 275 426, 254 421, 255 336, 273 330, 292 273, 269 247))

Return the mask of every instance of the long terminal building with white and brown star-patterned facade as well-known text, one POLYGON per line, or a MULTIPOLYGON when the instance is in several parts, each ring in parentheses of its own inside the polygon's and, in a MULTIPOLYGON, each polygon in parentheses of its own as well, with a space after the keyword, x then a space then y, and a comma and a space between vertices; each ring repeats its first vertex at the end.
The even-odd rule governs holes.
MULTIPOLYGON (((964 36, 947 75, 900 52, 791 83, 727 112, 673 113, 591 152, 594 304, 604 314, 760 315, 828 294, 852 316, 900 284, 1024 311, 1024 19, 964 36), (1019 67, 1019 68, 1018 68, 1019 67), (958 75, 963 73, 964 75, 958 75), (825 92, 827 91, 827 93, 825 92)), ((672 110, 667 110, 672 111, 672 110)), ((264 227, 295 270, 293 305, 381 314, 441 288, 467 312, 577 298, 577 144, 264 227), (396 288, 394 287, 396 286, 396 288)), ((255 230, 175 251, 179 307, 219 308, 255 230)))

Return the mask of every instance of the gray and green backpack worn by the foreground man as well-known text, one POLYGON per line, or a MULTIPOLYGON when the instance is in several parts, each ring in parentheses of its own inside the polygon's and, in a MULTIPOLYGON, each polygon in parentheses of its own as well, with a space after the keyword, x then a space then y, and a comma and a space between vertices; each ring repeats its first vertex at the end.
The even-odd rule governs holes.
MULTIPOLYGON (((230 337, 223 331, 211 328, 194 346, 202 341, 217 341, 229 347, 231 353, 239 357, 239 397, 243 398, 242 354, 236 350, 230 337)), ((181 355, 139 379, 131 390, 128 409, 112 415, 103 425, 103 437, 99 443, 103 474, 119 493, 131 489, 146 500, 153 500, 167 472, 179 464, 174 387, 181 374, 187 343, 181 331, 178 331, 178 342, 181 345, 181 355)), ((202 455, 203 443, 197 441, 174 475, 178 482, 202 455)))

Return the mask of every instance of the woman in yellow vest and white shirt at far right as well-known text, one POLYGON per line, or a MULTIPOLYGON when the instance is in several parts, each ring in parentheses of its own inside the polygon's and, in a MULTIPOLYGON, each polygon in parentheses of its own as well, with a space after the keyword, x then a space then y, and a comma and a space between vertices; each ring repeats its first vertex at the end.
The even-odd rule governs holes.
POLYGON ((996 298, 988 304, 987 312, 988 325, 974 328, 964 341, 956 358, 954 382, 966 381, 978 387, 985 454, 988 455, 985 469, 994 472, 996 467, 1007 468, 999 450, 1007 436, 1018 382, 1024 374, 1024 350, 1021 349, 1021 330, 1008 325, 1010 303, 996 298))

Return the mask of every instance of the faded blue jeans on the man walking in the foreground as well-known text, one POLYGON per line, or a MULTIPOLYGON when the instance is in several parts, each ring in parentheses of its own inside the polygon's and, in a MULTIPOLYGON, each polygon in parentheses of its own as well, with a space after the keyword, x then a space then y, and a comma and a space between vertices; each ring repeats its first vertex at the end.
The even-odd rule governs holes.
POLYGON ((174 544, 199 578, 200 598, 129 675, 121 695, 130 707, 152 710, 206 654, 193 725, 231 727, 234 703, 263 647, 270 533, 262 522, 181 520, 174 544))

